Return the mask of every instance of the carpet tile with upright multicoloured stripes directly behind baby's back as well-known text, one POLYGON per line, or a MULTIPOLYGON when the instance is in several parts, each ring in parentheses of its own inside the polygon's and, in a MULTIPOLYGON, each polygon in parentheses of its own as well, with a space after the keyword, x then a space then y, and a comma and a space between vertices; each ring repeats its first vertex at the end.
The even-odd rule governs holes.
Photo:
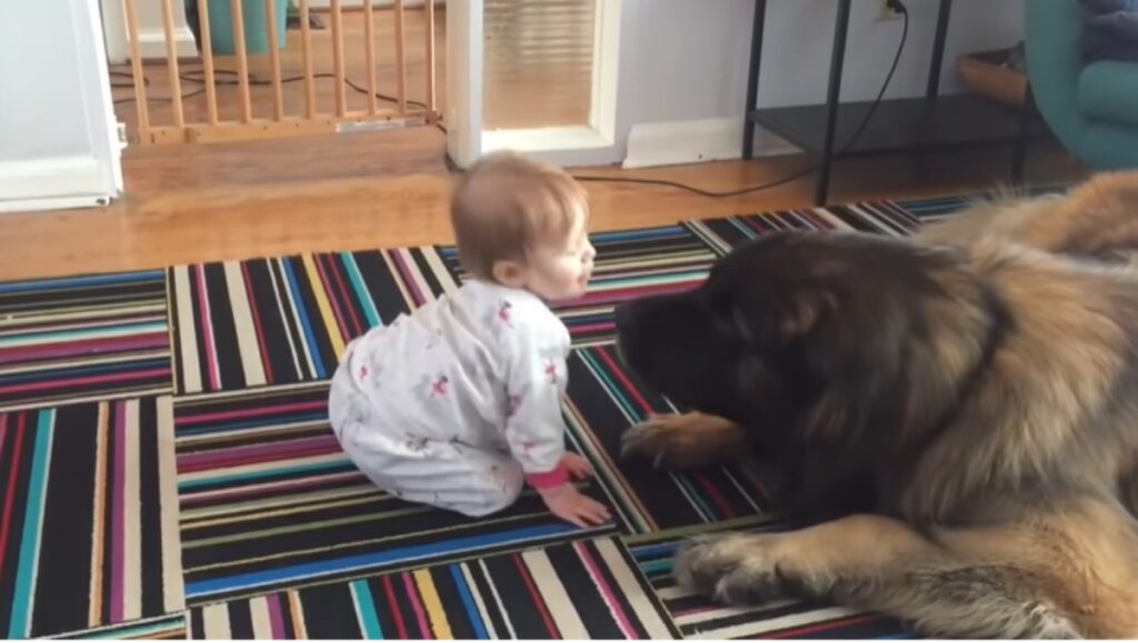
POLYGON ((434 248, 170 269, 180 394, 330 378, 344 346, 453 288, 434 248))

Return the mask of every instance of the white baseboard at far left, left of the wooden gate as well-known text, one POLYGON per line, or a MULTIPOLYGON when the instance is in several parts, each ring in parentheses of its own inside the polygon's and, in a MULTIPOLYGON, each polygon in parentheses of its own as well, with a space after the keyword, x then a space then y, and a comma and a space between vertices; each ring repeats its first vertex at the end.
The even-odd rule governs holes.
POLYGON ((93 157, 0 163, 0 212, 97 207, 117 195, 93 157))

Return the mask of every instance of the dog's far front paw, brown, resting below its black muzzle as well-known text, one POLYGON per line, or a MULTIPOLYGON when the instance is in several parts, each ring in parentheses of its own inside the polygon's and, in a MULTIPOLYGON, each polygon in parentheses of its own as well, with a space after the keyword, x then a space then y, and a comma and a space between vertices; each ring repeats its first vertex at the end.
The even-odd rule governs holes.
POLYGON ((696 469, 745 460, 750 445, 743 428, 716 415, 657 415, 621 436, 620 454, 651 460, 655 467, 696 469))

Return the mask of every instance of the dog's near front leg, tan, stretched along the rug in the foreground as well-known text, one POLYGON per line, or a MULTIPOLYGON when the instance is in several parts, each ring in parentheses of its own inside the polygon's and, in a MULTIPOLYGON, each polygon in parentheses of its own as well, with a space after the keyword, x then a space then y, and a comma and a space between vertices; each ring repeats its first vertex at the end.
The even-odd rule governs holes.
POLYGON ((728 603, 832 599, 940 637, 1133 636, 1138 583, 1123 572, 1138 551, 1133 534, 1116 517, 1091 513, 932 538, 898 520, 856 516, 786 534, 698 539, 675 572, 728 603))

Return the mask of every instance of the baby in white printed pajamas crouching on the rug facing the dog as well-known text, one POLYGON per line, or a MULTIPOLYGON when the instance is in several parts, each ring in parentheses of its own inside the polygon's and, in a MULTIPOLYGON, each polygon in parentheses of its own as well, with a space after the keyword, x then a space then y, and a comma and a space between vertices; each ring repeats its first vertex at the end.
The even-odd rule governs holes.
POLYGON ((595 250, 585 190, 564 172, 490 155, 451 203, 470 279, 354 339, 329 414, 344 451, 402 498, 478 517, 534 487, 579 527, 609 520, 571 479, 592 475, 564 447, 569 331, 547 302, 585 292, 595 250))

